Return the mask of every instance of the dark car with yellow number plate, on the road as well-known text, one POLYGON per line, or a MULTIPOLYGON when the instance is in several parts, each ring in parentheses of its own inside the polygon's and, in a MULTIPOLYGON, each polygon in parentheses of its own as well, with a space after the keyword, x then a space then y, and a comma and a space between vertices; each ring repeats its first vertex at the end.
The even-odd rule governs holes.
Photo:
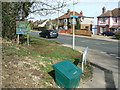
POLYGON ((55 29, 44 29, 42 30, 42 32, 39 33, 39 35, 45 38, 50 38, 50 37, 57 38, 58 32, 55 29))

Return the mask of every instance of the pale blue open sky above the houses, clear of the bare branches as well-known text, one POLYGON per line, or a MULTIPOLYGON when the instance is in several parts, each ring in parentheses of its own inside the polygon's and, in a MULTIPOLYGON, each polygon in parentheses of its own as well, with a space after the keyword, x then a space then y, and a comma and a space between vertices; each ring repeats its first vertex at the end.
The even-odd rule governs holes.
MULTIPOLYGON (((113 10, 114 8, 120 7, 118 2, 119 0, 75 0, 74 2, 78 2, 74 5, 74 11, 76 12, 83 12, 84 16, 87 17, 94 17, 94 24, 96 24, 96 17, 99 16, 102 13, 102 7, 105 6, 106 10, 113 10)), ((69 6, 64 8, 64 13, 59 14, 59 16, 65 14, 68 9, 73 11, 73 1, 69 1, 69 6)), ((48 16, 39 16, 31 14, 29 17, 34 17, 33 21, 36 20, 44 20, 44 19, 54 19, 58 17, 58 14, 52 14, 48 16)))

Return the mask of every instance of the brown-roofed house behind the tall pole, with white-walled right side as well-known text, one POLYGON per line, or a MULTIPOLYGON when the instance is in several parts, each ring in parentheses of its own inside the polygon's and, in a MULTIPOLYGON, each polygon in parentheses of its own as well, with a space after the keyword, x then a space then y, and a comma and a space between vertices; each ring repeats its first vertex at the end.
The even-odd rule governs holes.
MULTIPOLYGON (((83 16, 83 12, 74 12, 75 15, 78 16, 78 18, 75 19, 75 29, 77 30, 87 30, 87 31, 92 31, 92 25, 93 25, 93 20, 94 17, 86 17, 83 16), (80 28, 77 28, 77 22, 79 22, 80 28)), ((70 9, 68 9, 67 13, 64 15, 60 16, 57 18, 59 19, 59 29, 62 29, 63 33, 64 32, 72 32, 72 18, 70 15, 73 15, 73 11, 71 12, 70 9)))

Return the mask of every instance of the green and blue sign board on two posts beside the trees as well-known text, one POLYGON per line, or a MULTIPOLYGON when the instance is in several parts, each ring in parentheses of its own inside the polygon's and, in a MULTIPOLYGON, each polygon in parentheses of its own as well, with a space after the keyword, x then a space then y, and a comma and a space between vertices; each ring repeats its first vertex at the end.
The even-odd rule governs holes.
POLYGON ((16 34, 29 33, 30 30, 31 27, 28 21, 16 21, 16 34))

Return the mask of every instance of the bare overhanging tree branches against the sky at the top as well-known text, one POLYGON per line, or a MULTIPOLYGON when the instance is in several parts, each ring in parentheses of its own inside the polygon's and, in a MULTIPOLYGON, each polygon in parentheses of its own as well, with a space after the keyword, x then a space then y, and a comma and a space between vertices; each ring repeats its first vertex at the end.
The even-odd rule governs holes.
POLYGON ((38 13, 41 16, 46 16, 49 14, 54 14, 56 11, 63 11, 63 8, 67 6, 65 1, 57 0, 44 0, 35 1, 31 7, 29 13, 38 13))

